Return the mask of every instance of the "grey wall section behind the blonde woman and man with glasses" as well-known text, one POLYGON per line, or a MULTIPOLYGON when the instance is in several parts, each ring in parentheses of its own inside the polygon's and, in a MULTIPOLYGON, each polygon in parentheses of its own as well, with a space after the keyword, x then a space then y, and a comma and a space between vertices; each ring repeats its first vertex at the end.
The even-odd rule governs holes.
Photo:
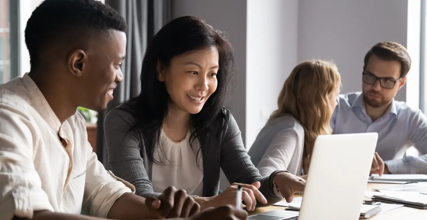
MULTIPOLYGON (((363 58, 380 41, 407 46, 408 0, 299 0, 298 61, 333 59, 342 92, 360 91, 363 58)), ((396 100, 406 100, 402 88, 396 100)))

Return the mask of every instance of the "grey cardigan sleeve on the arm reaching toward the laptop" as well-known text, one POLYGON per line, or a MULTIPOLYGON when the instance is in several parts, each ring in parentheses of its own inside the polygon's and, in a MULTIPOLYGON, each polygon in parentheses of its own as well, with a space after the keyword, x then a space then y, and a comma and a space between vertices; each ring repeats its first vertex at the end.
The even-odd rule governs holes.
POLYGON ((242 135, 236 120, 229 111, 226 111, 226 114, 228 122, 221 146, 221 168, 228 182, 252 184, 259 181, 261 183, 259 191, 266 197, 267 204, 257 201, 257 207, 273 205, 282 199, 275 194, 273 178, 277 173, 286 171, 276 170, 269 176, 261 176, 243 146, 242 135))

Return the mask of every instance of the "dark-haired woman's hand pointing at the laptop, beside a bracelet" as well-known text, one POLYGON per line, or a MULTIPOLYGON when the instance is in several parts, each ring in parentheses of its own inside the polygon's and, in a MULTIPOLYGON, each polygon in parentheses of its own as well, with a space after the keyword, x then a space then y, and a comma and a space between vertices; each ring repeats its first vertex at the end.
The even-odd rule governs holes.
POLYGON ((293 194, 304 192, 305 179, 291 173, 282 172, 276 174, 274 182, 286 202, 292 202, 293 194))

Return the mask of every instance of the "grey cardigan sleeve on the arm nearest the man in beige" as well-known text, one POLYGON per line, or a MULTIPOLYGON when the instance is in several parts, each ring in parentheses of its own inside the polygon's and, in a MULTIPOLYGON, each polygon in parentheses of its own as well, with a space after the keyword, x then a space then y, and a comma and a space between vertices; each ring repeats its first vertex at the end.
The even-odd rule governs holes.
POLYGON ((130 131, 133 124, 133 116, 123 109, 112 109, 105 116, 108 164, 116 176, 135 186, 135 194, 138 196, 158 197, 161 193, 153 191, 140 154, 143 143, 140 143, 137 132, 130 131))

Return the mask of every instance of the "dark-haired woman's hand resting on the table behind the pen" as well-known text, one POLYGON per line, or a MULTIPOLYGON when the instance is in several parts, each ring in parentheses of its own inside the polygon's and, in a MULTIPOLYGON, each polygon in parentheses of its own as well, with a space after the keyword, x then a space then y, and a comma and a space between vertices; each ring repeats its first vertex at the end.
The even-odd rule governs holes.
POLYGON ((206 197, 196 197, 194 200, 200 204, 201 210, 205 210, 209 207, 219 207, 222 205, 236 205, 236 192, 237 186, 242 186, 242 200, 245 201, 246 210, 253 211, 255 209, 255 205, 257 205, 258 201, 263 204, 267 203, 267 199, 261 194, 258 190, 260 188, 260 182, 254 182, 251 185, 249 184, 240 184, 233 183, 229 186, 225 191, 221 194, 206 198, 206 197))

